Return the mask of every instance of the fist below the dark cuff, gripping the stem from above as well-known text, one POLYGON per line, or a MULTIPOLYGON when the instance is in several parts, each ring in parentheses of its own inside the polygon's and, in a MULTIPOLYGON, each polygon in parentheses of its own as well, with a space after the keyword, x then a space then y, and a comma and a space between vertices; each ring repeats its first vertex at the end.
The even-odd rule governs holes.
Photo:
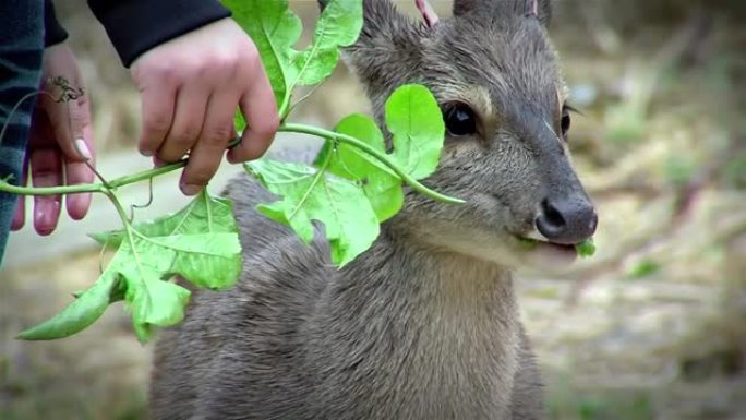
POLYGON ((237 107, 248 127, 228 160, 257 158, 269 147, 279 117, 258 51, 224 19, 161 44, 139 57, 132 77, 142 94, 140 152, 173 163, 188 152, 180 188, 198 193, 213 178, 236 136, 237 107))

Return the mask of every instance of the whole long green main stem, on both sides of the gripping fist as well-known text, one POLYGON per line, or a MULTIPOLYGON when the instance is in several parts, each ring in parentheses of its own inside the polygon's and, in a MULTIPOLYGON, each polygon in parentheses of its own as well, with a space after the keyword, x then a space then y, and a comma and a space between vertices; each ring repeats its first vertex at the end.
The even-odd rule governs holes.
MULTIPOLYGON (((390 168, 396 175, 398 175, 404 182, 406 182, 409 187, 412 188, 412 190, 419 192, 420 194, 423 194, 425 196, 429 196, 433 200, 437 200, 444 203, 449 203, 449 204, 464 204, 464 200, 460 199, 454 199, 444 194, 441 194, 436 191, 433 191, 429 189, 428 187, 421 184, 418 182, 416 179, 410 177, 401 167, 399 167, 396 163, 392 160, 392 157, 387 155, 386 153, 376 151, 375 148, 369 146, 368 144, 361 142, 360 140, 352 137, 350 135, 341 134, 341 133, 335 133, 334 131, 328 131, 324 129, 320 129, 316 127, 311 127, 311 125, 303 125, 303 124, 294 124, 294 123, 284 123, 280 125, 279 131, 281 132, 290 132, 290 133, 302 133, 302 134, 310 134, 310 135, 315 135, 318 137, 324 137, 333 141, 338 141, 341 143, 349 144, 350 146, 353 146, 356 148, 359 148, 369 155, 375 157, 378 159, 382 164, 386 165, 388 168, 390 168)), ((148 169, 142 172, 137 172, 134 175, 128 175, 124 177, 120 177, 117 179, 113 179, 108 182, 108 185, 104 185, 100 182, 96 183, 86 183, 86 184, 79 184, 79 185, 61 185, 61 187, 16 187, 13 185, 7 180, 0 180, 0 191, 2 192, 9 192, 13 194, 20 194, 20 195, 59 195, 59 194, 75 194, 75 193, 85 193, 85 192, 96 192, 96 193, 105 193, 107 190, 116 190, 117 188, 129 185, 131 183, 140 182, 146 179, 152 179, 155 177, 158 177, 164 173, 171 172, 176 169, 183 168, 186 166, 186 163, 189 161, 189 158, 182 159, 180 161, 177 161, 175 164, 169 164, 161 166, 159 168, 154 168, 154 169, 148 169), (108 187, 108 189, 107 189, 108 187)))

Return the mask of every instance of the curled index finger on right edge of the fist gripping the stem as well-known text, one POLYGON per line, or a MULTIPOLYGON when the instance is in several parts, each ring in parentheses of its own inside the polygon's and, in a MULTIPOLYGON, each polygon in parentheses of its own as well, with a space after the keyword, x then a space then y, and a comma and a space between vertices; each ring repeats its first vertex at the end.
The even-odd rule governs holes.
POLYGON ((232 164, 262 156, 269 148, 279 127, 275 94, 261 63, 256 65, 260 65, 258 71, 251 74, 253 83, 240 99, 246 129, 241 136, 241 144, 228 153, 228 160, 232 164))

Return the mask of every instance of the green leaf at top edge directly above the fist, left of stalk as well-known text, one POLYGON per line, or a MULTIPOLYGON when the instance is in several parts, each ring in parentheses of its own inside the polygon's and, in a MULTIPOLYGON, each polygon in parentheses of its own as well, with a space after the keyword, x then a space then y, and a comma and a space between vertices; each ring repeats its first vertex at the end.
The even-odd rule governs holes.
POLYGON ((277 104, 281 106, 290 96, 290 81, 297 77, 290 53, 303 29, 300 19, 288 8, 287 0, 222 0, 222 3, 256 45, 277 104))

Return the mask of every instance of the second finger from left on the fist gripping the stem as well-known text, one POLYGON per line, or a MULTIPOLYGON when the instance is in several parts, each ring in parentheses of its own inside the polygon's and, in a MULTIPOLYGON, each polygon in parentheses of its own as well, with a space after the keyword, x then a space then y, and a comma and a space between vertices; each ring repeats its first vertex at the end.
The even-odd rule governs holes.
POLYGON ((180 160, 197 141, 205 120, 209 92, 204 85, 185 85, 177 94, 171 129, 157 152, 161 160, 180 160))

